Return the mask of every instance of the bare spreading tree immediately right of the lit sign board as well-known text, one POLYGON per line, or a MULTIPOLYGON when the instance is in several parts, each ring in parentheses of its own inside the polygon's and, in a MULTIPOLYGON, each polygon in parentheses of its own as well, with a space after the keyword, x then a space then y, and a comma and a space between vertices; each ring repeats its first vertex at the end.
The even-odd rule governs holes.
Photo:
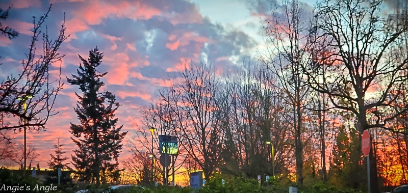
POLYGON ((171 125, 187 152, 208 178, 220 162, 223 131, 219 127, 219 79, 208 64, 186 64, 183 81, 161 94, 174 113, 171 125))

